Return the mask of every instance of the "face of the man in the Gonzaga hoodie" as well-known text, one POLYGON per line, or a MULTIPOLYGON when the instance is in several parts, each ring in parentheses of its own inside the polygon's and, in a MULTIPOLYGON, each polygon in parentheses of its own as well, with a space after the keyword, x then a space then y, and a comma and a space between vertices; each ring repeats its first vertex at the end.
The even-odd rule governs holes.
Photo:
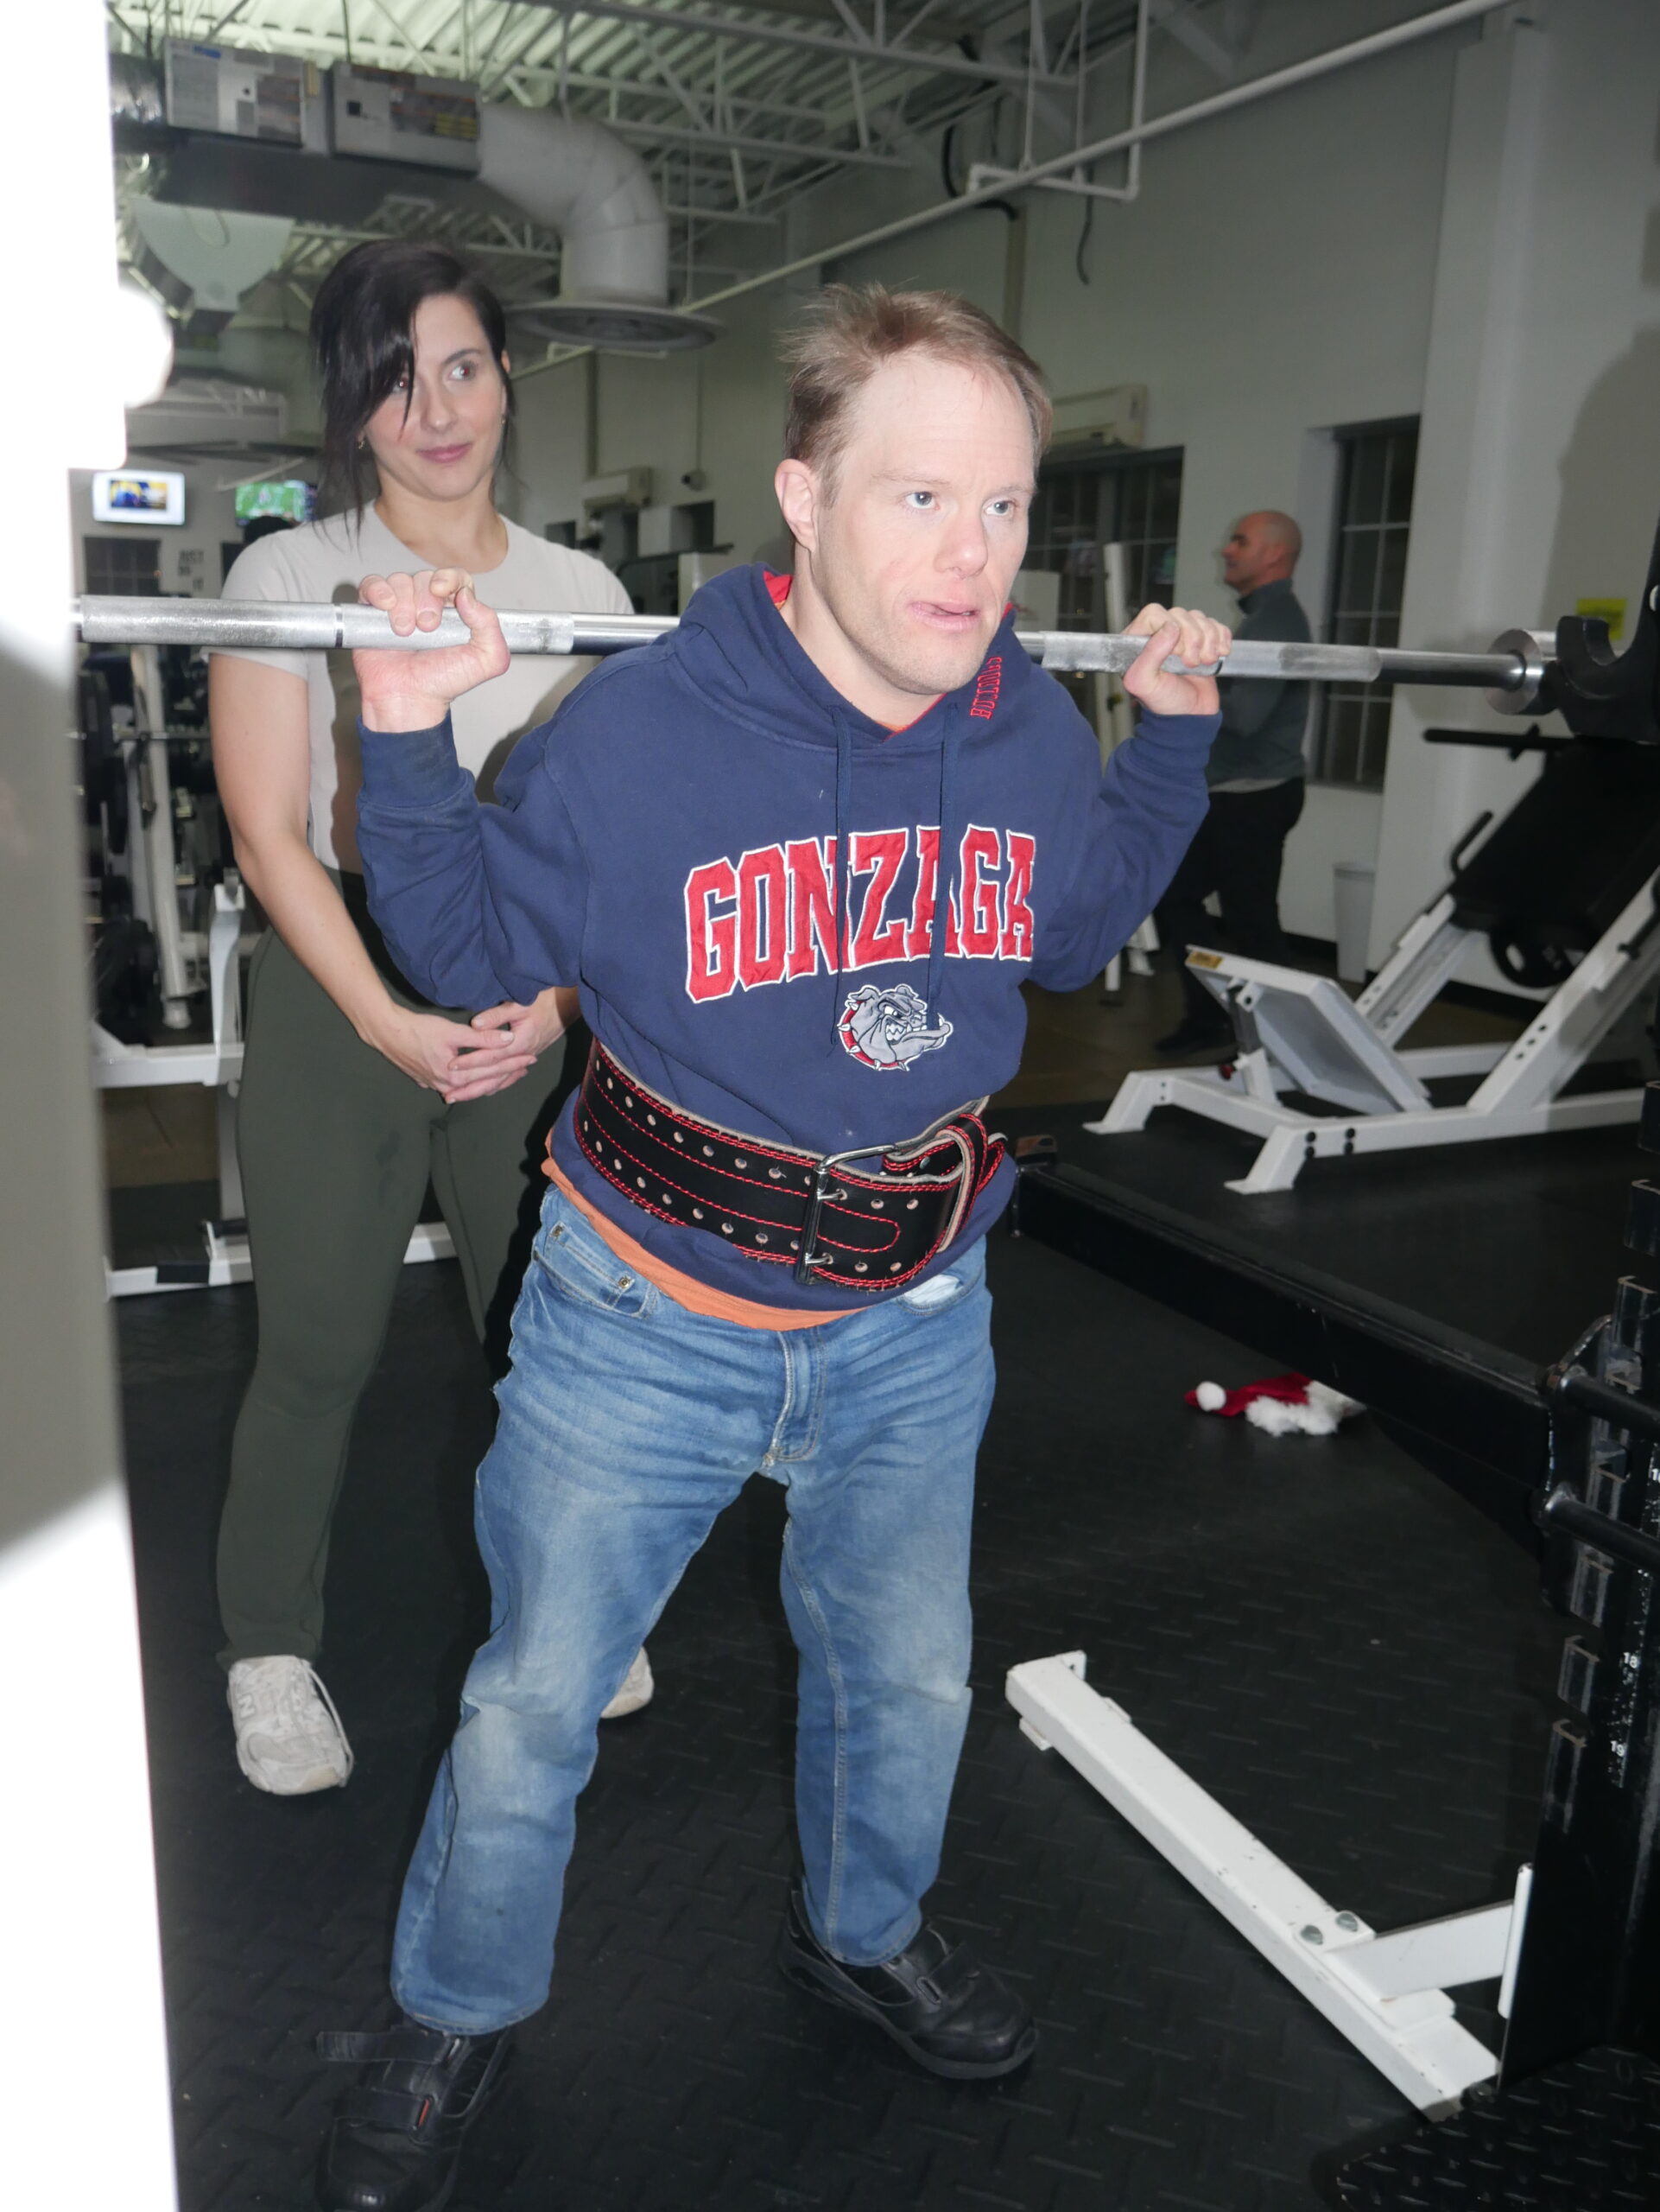
POLYGON ((829 487, 785 462, 780 498, 813 586, 886 688, 933 699, 975 675, 1026 557, 1032 476, 1017 389, 922 352, 858 394, 829 487))

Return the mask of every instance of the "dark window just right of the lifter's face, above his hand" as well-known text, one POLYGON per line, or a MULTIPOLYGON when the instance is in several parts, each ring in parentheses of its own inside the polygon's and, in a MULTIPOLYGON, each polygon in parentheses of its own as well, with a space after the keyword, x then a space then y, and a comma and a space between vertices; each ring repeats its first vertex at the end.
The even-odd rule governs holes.
POLYGON ((1061 628, 1107 626, 1101 546, 1123 544, 1125 617, 1169 599, 1183 507, 1180 449, 1165 453, 1050 453, 1032 500, 1028 568, 1061 577, 1061 628))

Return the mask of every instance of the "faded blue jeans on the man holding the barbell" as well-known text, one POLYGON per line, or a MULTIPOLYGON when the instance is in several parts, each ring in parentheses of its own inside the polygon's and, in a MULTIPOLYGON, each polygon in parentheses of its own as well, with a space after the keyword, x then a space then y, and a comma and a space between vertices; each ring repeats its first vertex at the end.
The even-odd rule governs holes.
POLYGON ((405 1878, 393 1991, 486 2035, 548 1995, 599 1710, 754 1471, 782 1482, 807 1916, 849 1964, 922 1924, 968 1719, 968 1537, 992 1396, 984 1243, 813 1329, 687 1314, 559 1190, 477 1473, 491 1637, 405 1878))

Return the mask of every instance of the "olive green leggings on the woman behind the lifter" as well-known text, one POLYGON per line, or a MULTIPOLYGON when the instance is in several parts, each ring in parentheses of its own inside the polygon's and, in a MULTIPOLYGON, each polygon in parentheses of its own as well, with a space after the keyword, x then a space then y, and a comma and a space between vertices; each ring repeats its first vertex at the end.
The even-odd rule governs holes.
POLYGON ((429 1177, 473 1325, 493 1349, 504 1343, 546 1190, 561 1060, 555 1046, 495 1097, 444 1106, 358 1037, 274 931, 254 953, 237 1148, 259 1360, 219 1524, 225 1666, 316 1657, 351 1416, 429 1177))

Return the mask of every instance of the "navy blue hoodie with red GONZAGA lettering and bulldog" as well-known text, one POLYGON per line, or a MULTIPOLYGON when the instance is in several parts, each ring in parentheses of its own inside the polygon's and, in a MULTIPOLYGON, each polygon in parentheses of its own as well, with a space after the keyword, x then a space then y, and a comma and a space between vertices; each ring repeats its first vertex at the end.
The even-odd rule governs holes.
MULTIPOLYGON (((363 730, 358 845, 398 967, 440 1006, 579 984, 601 1044, 690 1115, 840 1152, 1010 1082, 1021 982, 1085 984, 1154 907, 1205 814, 1214 734, 1211 717, 1143 712, 1103 779, 1010 617, 970 684, 891 732, 807 659, 767 573, 732 568, 519 741, 497 805, 449 721, 363 730), (933 929, 942 852, 950 920, 933 929)), ((769 1305, 849 1305, 632 1206, 570 1121, 559 1168, 670 1267, 769 1305)), ((1010 1183, 1006 1164, 959 1245, 1010 1183)))

